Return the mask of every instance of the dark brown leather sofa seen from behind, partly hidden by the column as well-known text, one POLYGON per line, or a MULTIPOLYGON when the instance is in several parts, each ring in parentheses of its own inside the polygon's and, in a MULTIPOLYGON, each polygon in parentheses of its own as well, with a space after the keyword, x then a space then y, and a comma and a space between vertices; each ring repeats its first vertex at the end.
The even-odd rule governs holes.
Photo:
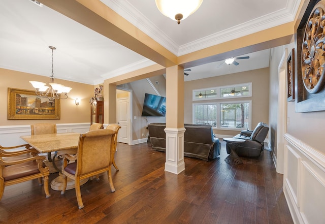
MULTIPOLYGON (((166 151, 166 123, 148 124, 150 143, 153 149, 166 151)), ((215 138, 211 125, 184 124, 184 156, 214 159, 220 155, 220 141, 215 138)))

